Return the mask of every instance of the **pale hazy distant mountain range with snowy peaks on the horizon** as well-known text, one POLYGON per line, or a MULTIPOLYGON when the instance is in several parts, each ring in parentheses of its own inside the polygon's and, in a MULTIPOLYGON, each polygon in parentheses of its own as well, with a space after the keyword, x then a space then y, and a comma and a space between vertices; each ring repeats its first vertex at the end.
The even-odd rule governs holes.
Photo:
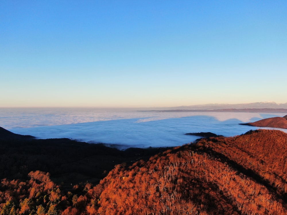
POLYGON ((277 104, 275 102, 255 102, 255 103, 245 103, 245 104, 205 104, 205 105, 189 105, 189 106, 179 106, 172 107, 176 109, 206 109, 206 110, 215 110, 215 109, 245 109, 245 108, 272 108, 279 109, 284 108, 287 109, 287 103, 277 104))

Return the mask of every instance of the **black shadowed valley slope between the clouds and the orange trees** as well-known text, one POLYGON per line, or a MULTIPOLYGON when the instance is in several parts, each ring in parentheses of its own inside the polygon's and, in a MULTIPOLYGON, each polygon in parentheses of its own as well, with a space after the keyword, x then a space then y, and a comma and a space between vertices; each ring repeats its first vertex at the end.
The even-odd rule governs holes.
POLYGON ((51 173, 53 180, 59 183, 98 182, 115 164, 126 162, 131 165, 166 149, 129 148, 123 151, 68 138, 33 139, 0 127, 0 179, 26 179, 30 171, 40 170, 51 173))

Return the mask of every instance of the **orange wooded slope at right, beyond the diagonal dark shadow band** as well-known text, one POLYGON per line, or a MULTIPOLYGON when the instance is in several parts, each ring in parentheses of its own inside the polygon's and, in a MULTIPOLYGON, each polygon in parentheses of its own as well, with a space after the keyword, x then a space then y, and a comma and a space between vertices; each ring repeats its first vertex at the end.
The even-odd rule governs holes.
POLYGON ((233 138, 202 139, 197 146, 241 168, 287 202, 287 134, 279 130, 256 130, 233 138), (218 141, 218 142, 217 142, 218 141), (226 157, 225 157, 226 156, 226 157))

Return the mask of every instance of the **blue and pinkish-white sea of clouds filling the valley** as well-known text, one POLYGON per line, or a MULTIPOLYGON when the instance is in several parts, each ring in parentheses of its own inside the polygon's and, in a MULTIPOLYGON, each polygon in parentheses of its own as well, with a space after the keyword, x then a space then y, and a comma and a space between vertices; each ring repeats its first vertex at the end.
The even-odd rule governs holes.
MULTIPOLYGON (((139 112, 134 109, 95 108, 2 108, 0 126, 11 132, 36 138, 70 138, 89 143, 102 142, 111 147, 125 149, 183 145, 199 138, 185 135, 191 132, 236 136, 251 129, 258 129, 239 123, 283 115, 139 112)), ((287 129, 280 130, 287 132, 287 129)))

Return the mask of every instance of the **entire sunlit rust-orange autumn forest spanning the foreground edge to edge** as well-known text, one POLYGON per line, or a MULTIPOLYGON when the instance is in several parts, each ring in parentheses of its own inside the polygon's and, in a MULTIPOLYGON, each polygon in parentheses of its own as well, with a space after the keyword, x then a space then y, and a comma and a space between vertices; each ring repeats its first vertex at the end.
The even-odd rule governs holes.
POLYGON ((0 214, 287 214, 287 134, 203 138, 67 189, 49 173, 2 179, 0 214))

